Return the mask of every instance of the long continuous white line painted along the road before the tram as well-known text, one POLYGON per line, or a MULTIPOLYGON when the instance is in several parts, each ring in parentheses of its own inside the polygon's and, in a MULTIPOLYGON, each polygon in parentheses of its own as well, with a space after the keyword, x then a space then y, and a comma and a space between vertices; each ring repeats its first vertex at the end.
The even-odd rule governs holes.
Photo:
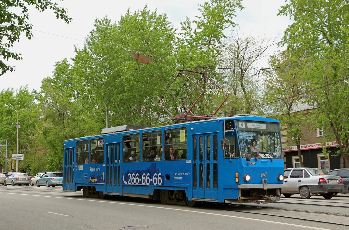
POLYGON ((253 219, 253 218, 248 218, 248 217, 224 215, 224 214, 217 214, 217 213, 199 212, 199 211, 179 209, 179 208, 166 208, 166 207, 157 207, 157 206, 150 206, 150 205, 126 204, 126 203, 104 201, 104 200, 77 199, 77 198, 68 198, 68 197, 52 197, 52 196, 22 194, 22 193, 9 193, 9 192, 0 192, 0 193, 11 194, 11 195, 23 195, 23 196, 50 197, 50 198, 59 198, 59 199, 93 201, 93 202, 102 202, 102 203, 110 203, 110 204, 121 204, 121 205, 131 205, 131 206, 148 207, 148 208, 169 209, 169 210, 176 210, 176 211, 182 211, 182 212, 192 212, 192 213, 208 214, 208 215, 215 215, 215 216, 232 217, 232 218, 243 219, 243 220, 253 220, 253 221, 266 222, 266 223, 281 224, 281 225, 287 225, 287 226, 298 227, 298 228, 307 228, 307 229, 316 229, 316 230, 332 230, 332 229, 326 229, 326 228, 311 227, 311 226, 306 226, 306 225, 289 224, 289 223, 275 222, 275 221, 269 221, 269 220, 263 220, 263 219, 253 219))

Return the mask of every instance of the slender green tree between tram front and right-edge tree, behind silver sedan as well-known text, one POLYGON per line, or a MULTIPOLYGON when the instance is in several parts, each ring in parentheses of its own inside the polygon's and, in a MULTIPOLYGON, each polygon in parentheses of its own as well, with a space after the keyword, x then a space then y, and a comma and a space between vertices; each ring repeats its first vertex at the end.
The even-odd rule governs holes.
POLYGON ((304 98, 299 94, 305 90, 304 74, 298 68, 302 61, 302 58, 294 60, 289 50, 270 56, 269 66, 275 71, 266 74, 262 98, 265 103, 270 103, 266 112, 277 117, 281 126, 286 127, 283 131, 287 132, 289 143, 297 146, 300 166, 305 167, 300 154, 300 140, 306 140, 310 114, 300 109, 304 98))

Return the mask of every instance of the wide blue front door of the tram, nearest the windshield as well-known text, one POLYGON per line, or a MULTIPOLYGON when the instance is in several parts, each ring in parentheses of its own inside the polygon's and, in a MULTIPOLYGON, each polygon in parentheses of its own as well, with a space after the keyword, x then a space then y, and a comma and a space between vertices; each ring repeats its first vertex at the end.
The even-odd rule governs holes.
POLYGON ((193 197, 217 199, 217 134, 207 133, 193 138, 196 139, 193 140, 193 144, 196 142, 193 152, 197 153, 197 158, 193 156, 193 176, 196 176, 193 197))

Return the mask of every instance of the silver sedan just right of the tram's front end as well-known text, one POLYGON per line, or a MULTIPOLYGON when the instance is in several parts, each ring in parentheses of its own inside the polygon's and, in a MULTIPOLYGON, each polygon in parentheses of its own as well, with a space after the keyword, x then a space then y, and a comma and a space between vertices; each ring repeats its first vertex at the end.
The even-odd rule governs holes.
POLYGON ((333 193, 344 191, 340 176, 331 176, 319 168, 287 168, 284 170, 284 183, 281 193, 284 197, 299 194, 303 199, 321 194, 331 199, 333 193))

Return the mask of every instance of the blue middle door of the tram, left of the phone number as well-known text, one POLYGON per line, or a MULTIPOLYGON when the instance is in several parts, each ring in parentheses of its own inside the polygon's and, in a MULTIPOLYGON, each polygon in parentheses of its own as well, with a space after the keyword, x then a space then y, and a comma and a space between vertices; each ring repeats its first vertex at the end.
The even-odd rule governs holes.
POLYGON ((107 144, 106 155, 106 192, 118 193, 118 181, 120 181, 118 179, 120 172, 120 142, 107 144))

